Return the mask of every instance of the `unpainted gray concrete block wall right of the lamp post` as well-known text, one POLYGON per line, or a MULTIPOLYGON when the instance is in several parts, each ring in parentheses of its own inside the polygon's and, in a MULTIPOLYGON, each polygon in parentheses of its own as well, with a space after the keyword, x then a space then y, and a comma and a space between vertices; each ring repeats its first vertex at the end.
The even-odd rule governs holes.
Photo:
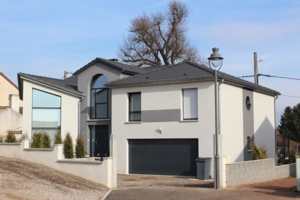
POLYGON ((296 166, 295 163, 275 166, 274 158, 269 158, 226 164, 225 173, 226 186, 236 186, 295 176, 296 166))

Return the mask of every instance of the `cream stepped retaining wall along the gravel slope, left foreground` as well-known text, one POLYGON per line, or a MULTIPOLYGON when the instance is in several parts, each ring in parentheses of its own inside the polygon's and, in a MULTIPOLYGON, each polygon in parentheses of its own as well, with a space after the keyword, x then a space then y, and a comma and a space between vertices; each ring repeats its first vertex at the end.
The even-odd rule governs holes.
POLYGON ((62 144, 54 144, 54 148, 29 148, 29 139, 22 139, 21 143, 0 143, 0 156, 35 162, 107 187, 116 187, 112 157, 103 157, 103 161, 63 159, 62 147, 62 144))

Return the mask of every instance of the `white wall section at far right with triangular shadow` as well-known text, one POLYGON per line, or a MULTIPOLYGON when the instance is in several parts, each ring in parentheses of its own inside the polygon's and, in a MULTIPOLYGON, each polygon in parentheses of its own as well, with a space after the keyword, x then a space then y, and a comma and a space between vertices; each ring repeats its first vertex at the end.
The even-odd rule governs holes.
POLYGON ((275 157, 274 97, 253 92, 254 141, 263 144, 269 158, 275 157))

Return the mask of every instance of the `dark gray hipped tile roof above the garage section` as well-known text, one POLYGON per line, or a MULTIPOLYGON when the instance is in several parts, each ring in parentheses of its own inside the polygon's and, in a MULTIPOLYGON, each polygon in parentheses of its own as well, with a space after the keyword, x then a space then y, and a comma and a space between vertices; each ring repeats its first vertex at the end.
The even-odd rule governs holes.
MULTIPOLYGON (((199 65, 194 62, 185 61, 178 64, 161 66, 155 69, 151 68, 145 73, 129 76, 122 79, 117 79, 107 83, 109 87, 113 86, 134 86, 139 84, 159 84, 167 82, 183 82, 183 81, 195 81, 195 80, 212 80, 214 78, 214 71, 210 68, 199 65)), ((218 71, 218 79, 224 79, 225 81, 235 83, 251 89, 256 89, 279 95, 278 91, 263 87, 261 85, 254 84, 247 80, 229 75, 227 73, 218 71)))

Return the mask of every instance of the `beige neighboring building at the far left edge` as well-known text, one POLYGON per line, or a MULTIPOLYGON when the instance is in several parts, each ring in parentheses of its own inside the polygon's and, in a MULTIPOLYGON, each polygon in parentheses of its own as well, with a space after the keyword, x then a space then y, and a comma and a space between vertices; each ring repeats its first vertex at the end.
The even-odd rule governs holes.
POLYGON ((0 72, 0 135, 11 131, 17 138, 20 137, 22 104, 18 97, 18 87, 0 72))

